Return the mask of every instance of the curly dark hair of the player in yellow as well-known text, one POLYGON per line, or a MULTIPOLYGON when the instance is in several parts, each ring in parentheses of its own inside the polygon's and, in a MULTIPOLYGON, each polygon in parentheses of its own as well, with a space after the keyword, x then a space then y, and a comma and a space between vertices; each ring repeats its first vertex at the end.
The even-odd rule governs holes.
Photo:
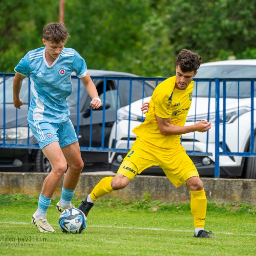
POLYGON ((202 63, 202 58, 195 52, 183 49, 177 56, 176 66, 179 66, 182 72, 191 72, 199 68, 202 63))

